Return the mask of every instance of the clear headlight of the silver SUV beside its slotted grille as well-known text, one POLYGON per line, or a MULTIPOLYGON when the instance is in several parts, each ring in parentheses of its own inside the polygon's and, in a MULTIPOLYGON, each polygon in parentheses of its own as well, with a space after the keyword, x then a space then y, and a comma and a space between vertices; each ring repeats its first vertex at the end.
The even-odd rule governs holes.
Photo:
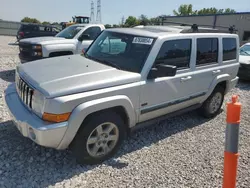
POLYGON ((32 109, 40 117, 42 117, 43 115, 44 105, 45 105, 45 97, 39 91, 34 90, 32 95, 32 109))

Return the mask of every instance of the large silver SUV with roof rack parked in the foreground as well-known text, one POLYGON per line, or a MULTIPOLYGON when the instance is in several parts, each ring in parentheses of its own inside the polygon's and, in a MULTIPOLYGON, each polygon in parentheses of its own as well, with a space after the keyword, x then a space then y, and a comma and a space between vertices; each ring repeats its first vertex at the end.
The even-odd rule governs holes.
POLYGON ((198 32, 104 30, 84 55, 17 66, 5 103, 23 136, 70 148, 79 163, 101 163, 141 126, 194 109, 207 118, 219 114, 238 82, 239 38, 198 32))

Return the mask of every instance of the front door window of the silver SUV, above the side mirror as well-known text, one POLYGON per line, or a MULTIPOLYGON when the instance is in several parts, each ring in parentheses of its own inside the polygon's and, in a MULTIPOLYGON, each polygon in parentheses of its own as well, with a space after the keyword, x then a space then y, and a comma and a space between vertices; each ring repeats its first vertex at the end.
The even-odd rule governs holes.
POLYGON ((178 69, 189 68, 191 46, 191 39, 166 41, 157 55, 155 64, 174 65, 178 69))

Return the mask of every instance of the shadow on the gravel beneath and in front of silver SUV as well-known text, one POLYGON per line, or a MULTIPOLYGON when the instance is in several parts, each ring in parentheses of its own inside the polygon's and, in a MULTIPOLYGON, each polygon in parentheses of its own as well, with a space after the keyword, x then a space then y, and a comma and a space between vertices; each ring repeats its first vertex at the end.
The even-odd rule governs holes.
MULTIPOLYGON (((208 121, 196 112, 176 116, 131 134, 117 155, 103 165, 122 169, 129 164, 117 157, 149 147, 174 134, 208 121)), ((12 121, 0 123, 0 187, 48 187, 96 167, 76 163, 70 151, 57 151, 36 145, 21 136, 12 121)), ((101 167, 102 168, 102 167, 101 167)))

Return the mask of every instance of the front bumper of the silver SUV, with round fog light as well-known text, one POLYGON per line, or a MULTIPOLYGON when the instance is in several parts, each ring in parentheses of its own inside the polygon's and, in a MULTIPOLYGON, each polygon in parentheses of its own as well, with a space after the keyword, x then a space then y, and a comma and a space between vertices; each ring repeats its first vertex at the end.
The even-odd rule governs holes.
POLYGON ((4 102, 24 137, 30 138, 38 145, 57 149, 67 130, 68 122, 48 123, 40 119, 19 100, 15 84, 10 84, 4 91, 4 102))

